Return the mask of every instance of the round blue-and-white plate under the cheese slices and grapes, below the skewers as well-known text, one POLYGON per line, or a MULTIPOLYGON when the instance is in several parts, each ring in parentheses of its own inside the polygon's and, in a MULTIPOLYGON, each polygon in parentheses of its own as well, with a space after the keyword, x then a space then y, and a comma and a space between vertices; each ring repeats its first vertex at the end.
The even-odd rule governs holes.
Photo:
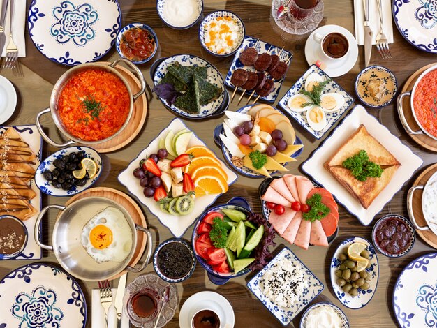
MULTIPOLYGON (((240 108, 239 110, 237 110, 237 112, 242 113, 242 114, 246 114, 247 112, 249 112, 249 110, 251 109, 253 105, 246 105, 242 108, 240 108)), ((274 108, 274 107, 273 107, 274 108)), ((274 108, 275 110, 277 110, 276 108, 274 108)), ((280 110, 277 110, 279 113, 283 114, 280 110)), ((224 129, 223 129, 223 124, 218 124, 218 126, 216 126, 216 128, 214 128, 214 142, 216 142, 216 144, 218 145, 218 147, 221 148, 221 151, 223 152, 223 157, 225 158, 226 163, 228 163, 228 165, 230 167, 232 167, 233 170, 237 171, 239 174, 242 174, 244 177, 249 177, 249 178, 265 178, 265 175, 262 174, 258 174, 257 172, 253 172, 251 169, 243 166, 243 167, 236 167, 233 163, 232 163, 232 154, 230 154, 230 151, 228 151, 228 148, 225 147, 225 145, 223 144, 223 142, 220 139, 220 134, 225 134, 224 133, 224 129)), ((299 137, 297 137, 296 135, 296 140, 295 140, 295 144, 303 144, 302 140, 300 140, 299 137)), ((302 150, 304 149, 304 147, 302 147, 301 149, 299 149, 298 151, 296 151, 294 154, 291 155, 292 158, 297 158, 297 156, 299 156, 302 153, 302 150)), ((292 162, 289 162, 292 163, 292 162)), ((287 166, 288 163, 283 164, 283 166, 287 166)), ((270 174, 275 174, 278 171, 269 171, 270 174)))

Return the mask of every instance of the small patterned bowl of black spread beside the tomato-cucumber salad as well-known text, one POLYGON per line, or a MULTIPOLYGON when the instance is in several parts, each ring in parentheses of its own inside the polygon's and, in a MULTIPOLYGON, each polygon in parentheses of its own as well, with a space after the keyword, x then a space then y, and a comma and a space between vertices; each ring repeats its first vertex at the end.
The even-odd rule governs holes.
POLYGON ((154 253, 156 274, 169 283, 182 283, 190 278, 195 269, 193 248, 183 239, 163 241, 154 253))

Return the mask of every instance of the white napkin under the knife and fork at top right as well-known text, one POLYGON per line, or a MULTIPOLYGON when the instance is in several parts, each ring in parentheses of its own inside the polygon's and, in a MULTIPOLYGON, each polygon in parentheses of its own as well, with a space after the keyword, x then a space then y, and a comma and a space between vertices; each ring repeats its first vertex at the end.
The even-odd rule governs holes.
MULTIPOLYGON (((383 7, 383 32, 388 38, 388 43, 393 43, 392 1, 380 1, 383 7)), ((354 0, 353 5, 355 10, 355 38, 358 45, 364 45, 364 0, 354 0)), ((372 45, 375 45, 376 36, 380 29, 378 2, 376 0, 369 0, 369 21, 373 31, 372 45)))

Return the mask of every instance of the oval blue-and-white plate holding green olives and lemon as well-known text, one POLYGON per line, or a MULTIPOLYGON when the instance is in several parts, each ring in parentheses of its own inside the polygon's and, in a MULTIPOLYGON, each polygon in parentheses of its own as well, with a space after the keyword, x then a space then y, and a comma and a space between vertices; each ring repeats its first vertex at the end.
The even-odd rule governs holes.
POLYGON ((376 256, 375 249, 373 246, 364 238, 361 237, 352 237, 343 241, 340 246, 336 249, 334 256, 332 256, 331 260, 331 269, 329 270, 331 274, 331 284, 332 289, 334 290, 334 294, 339 299, 341 304, 348 308, 357 309, 366 306, 369 301, 371 301, 373 295, 376 292, 376 286, 378 285, 379 278, 379 266, 378 266, 378 257, 376 256), (371 278, 367 283, 369 283, 369 290, 358 290, 358 295, 352 297, 348 292, 343 292, 341 287, 337 284, 337 276, 335 275, 335 271, 340 267, 339 255, 341 253, 348 252, 348 246, 353 243, 362 243, 367 245, 367 251, 369 251, 369 260, 371 266, 366 269, 366 272, 371 275, 371 278))

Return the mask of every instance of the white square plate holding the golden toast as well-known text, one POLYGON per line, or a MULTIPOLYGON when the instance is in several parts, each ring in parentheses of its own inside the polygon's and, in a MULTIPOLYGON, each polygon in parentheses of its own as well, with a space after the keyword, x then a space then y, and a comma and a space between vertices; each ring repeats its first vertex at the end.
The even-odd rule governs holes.
POLYGON ((356 216, 363 225, 369 225, 376 214, 383 209, 387 202, 390 202, 394 194, 402 188, 403 184, 410 179, 422 163, 422 159, 402 144, 399 138, 392 135, 375 117, 367 113, 364 107, 357 105, 325 139, 323 144, 313 152, 302 165, 302 170, 323 188, 330 191, 336 197, 337 202, 346 207, 350 214, 356 216), (373 200, 368 209, 364 209, 360 202, 355 200, 346 188, 341 186, 339 181, 323 167, 323 163, 360 127, 360 124, 364 124, 367 131, 401 163, 401 167, 394 173, 390 183, 373 200))

